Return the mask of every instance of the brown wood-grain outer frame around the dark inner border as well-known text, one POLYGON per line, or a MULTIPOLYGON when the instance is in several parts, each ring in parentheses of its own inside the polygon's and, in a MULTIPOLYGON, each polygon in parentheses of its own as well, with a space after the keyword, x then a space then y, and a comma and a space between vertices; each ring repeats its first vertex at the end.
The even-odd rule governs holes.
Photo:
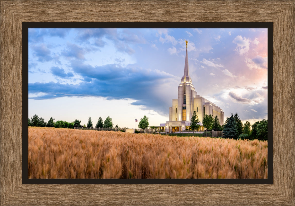
POLYGON ((294 0, 0 2, 0 205, 295 205, 294 0), (22 22, 45 21, 273 22, 273 185, 22 185, 22 22))

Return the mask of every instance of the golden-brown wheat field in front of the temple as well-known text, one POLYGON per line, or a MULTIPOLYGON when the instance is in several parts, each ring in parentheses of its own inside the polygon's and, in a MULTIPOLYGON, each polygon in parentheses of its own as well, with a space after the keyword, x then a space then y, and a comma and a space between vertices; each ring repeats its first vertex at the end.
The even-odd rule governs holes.
POLYGON ((28 178, 267 178, 267 141, 28 127, 28 178))

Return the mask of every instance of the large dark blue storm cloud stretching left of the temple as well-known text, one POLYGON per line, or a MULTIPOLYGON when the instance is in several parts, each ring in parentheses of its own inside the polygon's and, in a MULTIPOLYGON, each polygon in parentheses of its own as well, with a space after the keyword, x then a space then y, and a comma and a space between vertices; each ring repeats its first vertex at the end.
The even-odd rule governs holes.
MULTIPOLYGON (((144 105, 146 109, 153 108, 163 114, 167 109, 167 100, 156 97, 161 88, 161 80, 174 80, 174 76, 158 70, 142 69, 129 65, 121 67, 110 64, 92 67, 81 62, 72 63, 73 71, 84 79, 80 84, 60 84, 55 82, 29 83, 28 92, 34 94, 43 92, 45 95, 31 99, 55 99, 70 96, 96 96, 108 99, 137 99, 133 105, 144 105)), ((53 74, 68 77, 63 69, 52 68, 53 74)), ((170 101, 169 101, 170 102, 170 101)))

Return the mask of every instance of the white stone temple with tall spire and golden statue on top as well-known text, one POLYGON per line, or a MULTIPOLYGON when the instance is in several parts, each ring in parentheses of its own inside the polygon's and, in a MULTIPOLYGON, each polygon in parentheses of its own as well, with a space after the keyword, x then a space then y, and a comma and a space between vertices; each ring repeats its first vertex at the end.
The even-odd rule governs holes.
POLYGON ((166 132, 180 132, 189 129, 194 111, 196 111, 197 118, 200 121, 201 127, 199 131, 204 131, 205 129, 202 124, 205 114, 212 114, 213 118, 217 115, 220 125, 224 124, 224 112, 222 109, 204 97, 197 95, 195 91, 189 76, 186 42, 184 74, 178 87, 178 98, 172 99, 172 107, 169 107, 169 121, 165 124, 160 124, 161 129, 166 132))

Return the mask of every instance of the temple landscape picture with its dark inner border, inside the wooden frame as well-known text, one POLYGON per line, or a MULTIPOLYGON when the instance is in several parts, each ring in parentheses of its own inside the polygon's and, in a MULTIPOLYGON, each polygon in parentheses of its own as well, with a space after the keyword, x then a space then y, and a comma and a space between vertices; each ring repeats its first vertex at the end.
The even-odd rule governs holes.
POLYGON ((273 24, 153 25, 23 23, 23 184, 273 184, 273 24))

